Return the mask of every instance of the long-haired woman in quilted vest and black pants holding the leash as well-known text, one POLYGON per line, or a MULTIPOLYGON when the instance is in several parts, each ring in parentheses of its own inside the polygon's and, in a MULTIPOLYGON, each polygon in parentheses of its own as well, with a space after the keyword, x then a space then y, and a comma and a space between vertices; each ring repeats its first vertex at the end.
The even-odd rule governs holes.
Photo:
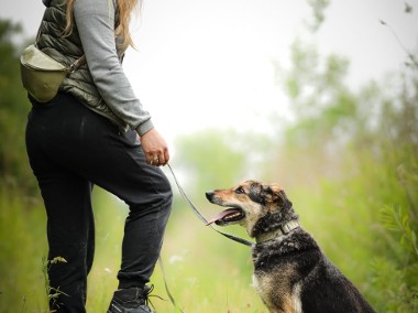
POLYGON ((169 160, 167 144, 121 66, 138 0, 43 2, 38 47, 66 65, 86 56, 54 99, 30 98, 26 149, 47 214, 50 306, 85 312, 96 184, 129 205, 109 312, 151 312, 146 283, 161 251, 172 190, 158 168, 169 160), (56 261, 61 258, 65 261, 56 261))

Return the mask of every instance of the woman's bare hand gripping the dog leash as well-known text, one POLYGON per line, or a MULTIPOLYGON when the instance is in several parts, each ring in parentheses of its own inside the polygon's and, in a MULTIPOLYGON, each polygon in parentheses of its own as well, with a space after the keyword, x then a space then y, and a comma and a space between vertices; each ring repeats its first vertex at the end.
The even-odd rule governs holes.
POLYGON ((164 138, 155 130, 155 128, 145 132, 141 138, 142 149, 145 152, 146 163, 155 166, 168 163, 168 147, 164 138))

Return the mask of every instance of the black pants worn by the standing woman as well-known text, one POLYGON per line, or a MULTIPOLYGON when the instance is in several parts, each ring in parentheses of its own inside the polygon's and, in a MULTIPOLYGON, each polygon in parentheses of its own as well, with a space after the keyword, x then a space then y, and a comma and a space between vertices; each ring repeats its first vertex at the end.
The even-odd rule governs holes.
POLYGON ((136 133, 121 133, 108 119, 58 94, 47 104, 33 101, 26 150, 47 214, 52 293, 61 294, 52 309, 85 312, 95 250, 94 184, 129 205, 119 288, 148 282, 163 244, 172 190, 161 169, 146 164, 136 133), (56 257, 66 262, 51 262, 56 257))

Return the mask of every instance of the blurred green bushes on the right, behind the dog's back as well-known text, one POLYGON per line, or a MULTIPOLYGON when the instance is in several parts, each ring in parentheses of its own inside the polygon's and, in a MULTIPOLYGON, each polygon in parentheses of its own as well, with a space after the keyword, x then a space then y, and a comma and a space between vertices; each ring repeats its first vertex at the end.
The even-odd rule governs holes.
POLYGON ((341 245, 324 248, 378 312, 415 312, 418 67, 406 63, 405 71, 385 85, 371 83, 354 94, 343 84, 344 60, 331 55, 321 67, 316 51, 299 44, 293 55, 293 67, 282 71, 282 78, 296 122, 286 130, 285 149, 277 150, 278 176, 296 173, 298 179, 290 182, 296 184, 310 173, 305 183, 317 191, 312 196, 321 214, 338 215, 350 225, 354 234, 344 234, 336 218, 326 235, 316 229, 321 218, 307 215, 316 219, 308 225, 319 238, 332 241, 334 234, 343 233, 349 237, 339 241, 350 247, 350 255, 369 260, 360 266, 343 260, 346 251, 341 251, 341 245))

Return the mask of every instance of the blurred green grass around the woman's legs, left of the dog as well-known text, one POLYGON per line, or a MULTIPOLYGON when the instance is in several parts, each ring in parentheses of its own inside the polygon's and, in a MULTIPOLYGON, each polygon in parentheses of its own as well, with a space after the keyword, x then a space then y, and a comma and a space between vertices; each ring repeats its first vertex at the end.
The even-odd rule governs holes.
MULTIPOLYGON (((48 312, 45 287, 46 216, 40 198, 0 191, 0 312, 48 312)), ((127 207, 95 190, 97 247, 88 279, 87 312, 106 312, 120 266, 127 207)), ((162 260, 166 282, 184 312, 267 312, 251 287, 250 251, 205 227, 185 205, 175 207, 162 260)), ((161 267, 152 277, 157 312, 176 312, 161 267)), ((179 312, 179 311, 177 311, 179 312)))

